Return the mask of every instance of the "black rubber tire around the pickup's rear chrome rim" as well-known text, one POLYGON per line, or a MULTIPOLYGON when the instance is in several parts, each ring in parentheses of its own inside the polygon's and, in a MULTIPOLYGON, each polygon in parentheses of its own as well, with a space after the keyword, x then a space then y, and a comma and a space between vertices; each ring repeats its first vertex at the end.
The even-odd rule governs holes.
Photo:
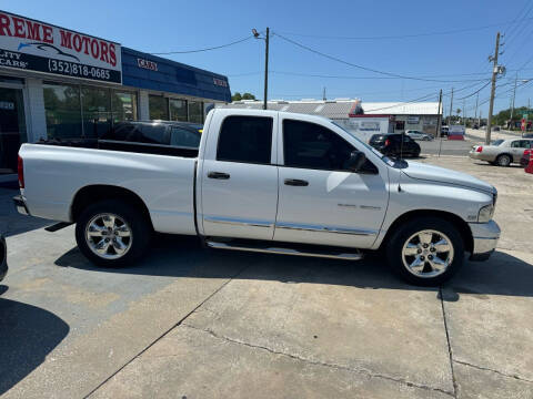
MULTIPOLYGON (((121 224, 121 226, 123 226, 123 224, 121 224)), ((123 267, 139 260, 139 258, 145 254, 151 237, 152 228, 148 215, 144 215, 141 209, 128 202, 119 200, 105 200, 88 206, 81 212, 76 224, 76 241, 81 253, 93 264, 104 267, 123 267), (117 237, 122 244, 125 243, 128 248, 124 250, 123 255, 119 255, 119 253, 114 250, 114 244, 110 245, 107 255, 98 255, 95 250, 91 249, 89 241, 97 243, 100 241, 100 237, 87 238, 87 229, 89 228, 91 221, 102 214, 117 216, 115 219, 118 221, 118 225, 120 222, 125 223, 128 227, 127 229, 130 234, 129 239, 127 236, 120 237, 119 233, 117 233, 115 236, 114 232, 112 236, 109 236, 109 232, 105 232, 107 236, 103 236, 107 237, 105 239, 108 239, 108 242, 111 239, 109 237, 117 237), (113 258, 113 253, 119 257, 113 258), (104 257, 109 255, 111 255, 111 257, 104 257)))

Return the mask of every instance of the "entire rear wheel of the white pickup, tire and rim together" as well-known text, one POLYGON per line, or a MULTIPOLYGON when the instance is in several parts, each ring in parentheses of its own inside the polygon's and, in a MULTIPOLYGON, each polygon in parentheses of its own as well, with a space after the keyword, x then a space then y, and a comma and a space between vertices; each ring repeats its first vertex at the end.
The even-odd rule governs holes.
POLYGON ((151 228, 134 206, 108 200, 88 206, 76 225, 76 241, 94 264, 120 267, 139 259, 148 249, 151 228))

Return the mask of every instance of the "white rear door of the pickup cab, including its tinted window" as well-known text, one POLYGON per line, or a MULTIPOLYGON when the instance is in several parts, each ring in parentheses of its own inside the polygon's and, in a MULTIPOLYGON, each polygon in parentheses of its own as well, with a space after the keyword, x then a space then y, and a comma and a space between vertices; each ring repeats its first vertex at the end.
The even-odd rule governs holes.
POLYGON ((201 174, 204 236, 272 239, 278 206, 276 112, 217 110, 201 174))

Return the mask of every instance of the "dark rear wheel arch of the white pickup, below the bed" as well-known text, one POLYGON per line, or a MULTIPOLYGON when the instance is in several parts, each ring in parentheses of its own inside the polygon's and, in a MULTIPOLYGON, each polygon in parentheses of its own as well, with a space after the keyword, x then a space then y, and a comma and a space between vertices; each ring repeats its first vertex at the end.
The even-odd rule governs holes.
POLYGON ((94 184, 80 188, 76 193, 70 207, 71 221, 77 222, 78 217, 87 206, 104 200, 121 200, 135 206, 141 211, 153 229, 150 212, 148 211, 144 201, 131 190, 108 184, 94 184))

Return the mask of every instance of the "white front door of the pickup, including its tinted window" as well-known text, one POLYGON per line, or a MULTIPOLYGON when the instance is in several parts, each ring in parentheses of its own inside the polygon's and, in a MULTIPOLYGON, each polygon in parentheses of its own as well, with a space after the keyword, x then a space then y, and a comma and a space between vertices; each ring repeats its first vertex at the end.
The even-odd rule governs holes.
POLYGON ((365 173, 350 172, 344 165, 363 144, 348 132, 341 131, 341 136, 328 122, 321 125, 281 115, 279 124, 280 198, 274 239, 369 248, 389 201, 384 163, 378 160, 381 164, 374 165, 368 160, 365 173))

